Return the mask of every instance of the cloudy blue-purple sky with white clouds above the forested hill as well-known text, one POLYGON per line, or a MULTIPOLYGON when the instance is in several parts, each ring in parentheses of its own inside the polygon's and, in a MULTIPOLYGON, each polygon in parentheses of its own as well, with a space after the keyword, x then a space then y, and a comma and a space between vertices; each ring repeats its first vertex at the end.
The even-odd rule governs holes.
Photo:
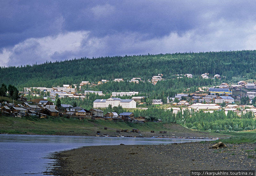
POLYGON ((254 50, 256 1, 0 0, 0 66, 254 50))

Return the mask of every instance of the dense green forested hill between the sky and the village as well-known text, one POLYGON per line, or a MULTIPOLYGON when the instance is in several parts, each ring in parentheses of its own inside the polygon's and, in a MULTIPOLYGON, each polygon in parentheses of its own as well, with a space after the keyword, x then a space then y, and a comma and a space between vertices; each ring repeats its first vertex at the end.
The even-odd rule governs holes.
POLYGON ((227 80, 232 77, 254 79, 256 50, 80 58, 32 66, 0 67, 0 83, 19 88, 51 87, 101 79, 141 77, 148 80, 159 73, 164 74, 164 78, 171 78, 174 74, 189 73, 196 77, 210 73, 209 76, 226 76, 227 80))

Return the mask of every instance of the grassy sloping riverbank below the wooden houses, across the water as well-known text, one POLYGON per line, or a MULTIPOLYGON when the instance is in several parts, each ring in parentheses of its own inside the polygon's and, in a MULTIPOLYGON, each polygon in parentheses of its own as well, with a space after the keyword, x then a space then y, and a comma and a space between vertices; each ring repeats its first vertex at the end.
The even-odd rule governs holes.
POLYGON ((70 136, 95 136, 96 132, 108 134, 110 136, 162 136, 159 131, 167 131, 166 136, 193 136, 193 137, 220 137, 225 138, 230 135, 212 133, 205 131, 195 131, 184 128, 178 124, 165 123, 126 123, 104 120, 78 120, 76 118, 49 117, 39 119, 36 117, 12 117, 0 116, 0 133, 8 134, 33 134, 33 135, 70 135, 70 136), (107 127, 107 129, 104 129, 107 127), (140 133, 130 132, 133 128, 140 130, 140 133), (116 133, 116 130, 128 129, 127 133, 116 133), (150 131, 154 130, 155 133, 150 131))

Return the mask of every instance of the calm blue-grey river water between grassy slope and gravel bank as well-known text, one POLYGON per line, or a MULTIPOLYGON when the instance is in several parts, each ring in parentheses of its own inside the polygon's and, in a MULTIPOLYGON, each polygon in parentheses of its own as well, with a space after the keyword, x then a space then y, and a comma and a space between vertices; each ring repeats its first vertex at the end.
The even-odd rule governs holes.
POLYGON ((83 146, 168 144, 200 139, 130 138, 96 136, 0 135, 0 176, 44 175, 51 167, 50 153, 83 146))

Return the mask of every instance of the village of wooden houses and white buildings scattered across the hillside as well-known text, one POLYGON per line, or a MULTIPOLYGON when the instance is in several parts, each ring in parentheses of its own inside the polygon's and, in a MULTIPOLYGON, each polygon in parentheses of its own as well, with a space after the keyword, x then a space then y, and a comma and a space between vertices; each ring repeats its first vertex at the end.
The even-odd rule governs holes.
MULTIPOLYGON (((214 77, 208 77, 209 74, 204 73, 200 78, 202 79, 220 79, 220 75, 214 75, 214 77)), ((153 85, 156 85, 158 81, 164 81, 162 78, 163 74, 158 74, 153 76, 151 82, 153 85)), ((193 78, 191 74, 184 75, 175 75, 177 78, 180 76, 193 78)), ((114 79, 114 82, 122 82, 124 79, 118 78, 114 79)), ((132 78, 129 82, 139 83, 141 78, 136 77, 132 78)), ((101 80, 96 85, 104 84, 109 82, 108 80, 101 80)), ((4 114, 12 114, 16 116, 39 116, 44 118, 46 116, 75 116, 79 119, 101 119, 101 120, 114 120, 114 121, 128 121, 128 122, 145 122, 146 117, 134 117, 134 114, 131 112, 131 109, 148 109, 148 107, 137 107, 143 104, 146 104, 144 99, 145 96, 137 96, 139 92, 112 92, 111 97, 108 99, 95 99, 93 101, 93 108, 86 110, 82 107, 68 104, 57 105, 55 99, 62 98, 72 98, 84 100, 86 95, 92 93, 99 96, 104 96, 102 91, 84 91, 84 93, 77 93, 84 85, 93 86, 93 83, 89 81, 82 81, 78 85, 68 85, 64 84, 62 87, 30 87, 24 88, 24 92, 20 92, 20 100, 22 103, 15 104, 12 102, 1 102, 0 108, 1 112, 4 114), (32 93, 31 93, 32 92, 32 93), (33 93, 37 92, 37 93, 33 93), (47 95, 44 99, 28 99, 26 96, 32 94, 33 96, 39 96, 40 94, 47 95), (116 96, 131 96, 131 99, 121 99, 116 98, 116 96), (123 112, 117 114, 116 112, 108 112, 103 114, 102 108, 107 107, 122 106, 122 108, 129 109, 130 112, 123 112)), ((95 85, 95 84, 94 84, 95 85)), ((245 81, 239 81, 237 84, 228 85, 227 83, 221 83, 218 86, 214 87, 199 87, 198 91, 192 93, 181 92, 176 94, 175 97, 167 97, 167 103, 164 104, 162 99, 152 99, 151 104, 158 108, 164 108, 166 111, 169 110, 170 113, 177 114, 178 112, 183 112, 184 110, 193 110, 193 111, 203 111, 205 113, 213 113, 214 111, 223 110, 227 115, 228 111, 235 112, 238 116, 245 114, 246 112, 252 112, 256 115, 256 108, 252 105, 256 100, 256 91, 247 92, 244 95, 246 99, 245 104, 241 104, 241 98, 243 90, 256 90, 255 83, 246 83, 245 81), (233 91, 236 94, 233 94, 233 91), (241 94, 240 94, 241 91, 241 94), (237 93, 238 92, 238 93, 237 93)), ((187 89, 188 91, 189 89, 187 89)), ((159 121, 161 121, 159 119, 159 121)))

